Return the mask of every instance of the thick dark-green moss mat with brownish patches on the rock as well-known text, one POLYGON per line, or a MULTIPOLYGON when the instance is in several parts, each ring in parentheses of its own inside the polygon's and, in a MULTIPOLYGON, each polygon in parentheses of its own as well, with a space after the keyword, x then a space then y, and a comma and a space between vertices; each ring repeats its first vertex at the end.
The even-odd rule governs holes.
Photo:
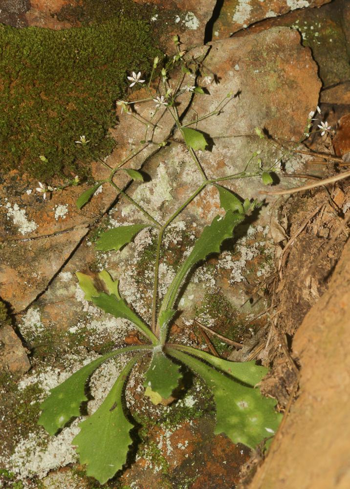
POLYGON ((0 26, 1 171, 88 175, 88 162, 113 148, 126 75, 149 71, 153 44, 149 26, 125 16, 59 31, 0 26), (87 148, 74 142, 82 134, 87 148))

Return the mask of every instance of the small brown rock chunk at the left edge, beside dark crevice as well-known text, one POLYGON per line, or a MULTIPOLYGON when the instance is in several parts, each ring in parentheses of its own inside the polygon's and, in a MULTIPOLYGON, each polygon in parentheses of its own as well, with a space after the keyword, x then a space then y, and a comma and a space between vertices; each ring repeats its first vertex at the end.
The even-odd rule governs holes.
POLYGON ((30 363, 20 338, 9 325, 0 327, 0 370, 12 374, 23 374, 30 369, 30 363))

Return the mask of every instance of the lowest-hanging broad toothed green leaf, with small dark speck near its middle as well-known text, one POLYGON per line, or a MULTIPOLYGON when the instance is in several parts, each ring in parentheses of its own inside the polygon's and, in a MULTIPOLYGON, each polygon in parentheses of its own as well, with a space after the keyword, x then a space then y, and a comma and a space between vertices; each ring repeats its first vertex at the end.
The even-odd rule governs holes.
POLYGON ((86 473, 105 484, 126 462, 132 443, 129 431, 133 425, 124 414, 122 392, 129 372, 140 355, 130 360, 120 373, 101 406, 79 424, 80 432, 73 439, 86 473))

